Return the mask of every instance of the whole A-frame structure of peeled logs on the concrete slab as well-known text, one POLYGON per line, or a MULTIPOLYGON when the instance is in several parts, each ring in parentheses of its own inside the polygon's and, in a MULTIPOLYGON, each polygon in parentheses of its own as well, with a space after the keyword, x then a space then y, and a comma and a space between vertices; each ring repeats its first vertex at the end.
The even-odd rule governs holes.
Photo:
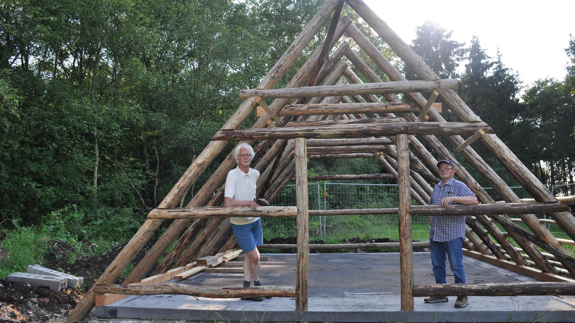
MULTIPOLYGON (((343 0, 327 0, 256 89, 240 91, 243 103, 193 161, 158 208, 148 214, 148 219, 97 280, 95 286, 78 303, 68 321, 86 317, 94 307, 97 295, 108 297, 107 301, 102 303, 105 304, 123 297, 120 295, 120 298, 113 298, 117 294, 295 296, 296 310, 306 310, 309 214, 400 215, 402 310, 413 310, 413 297, 421 295, 573 295, 575 280, 571 278, 575 278, 575 259, 562 247, 562 244, 573 244, 575 240, 575 218, 569 207, 558 202, 493 130, 459 98, 454 91, 457 89, 457 80, 440 79, 362 0, 345 2, 415 71, 420 80, 405 79, 351 23, 350 18, 340 19, 343 0), (324 43, 319 45, 293 75, 285 89, 273 89, 332 14, 324 43), (361 48, 392 82, 384 82, 382 76, 352 51, 346 41, 340 41, 343 34, 352 39, 356 45, 354 48, 361 48), (339 47, 328 57, 328 53, 338 43, 339 47), (347 60, 344 60, 344 57, 347 60), (351 70, 348 65, 350 63, 371 83, 363 83, 351 70), (424 91, 432 94, 425 98, 421 94, 424 91), (401 102, 396 93, 404 93, 409 102, 401 102), (381 94, 385 102, 375 94, 381 94), (268 104, 264 101, 267 98, 274 100, 268 104), (461 122, 446 122, 431 107, 437 98, 440 98, 461 122), (256 106, 263 107, 263 115, 250 129, 238 130, 256 106), (447 137, 461 156, 454 156, 437 136, 447 137), (462 136, 469 139, 465 140, 462 136), (228 171, 236 166, 232 149, 187 206, 176 209, 192 184, 222 151, 227 141, 240 140, 250 144, 257 141, 254 168, 262 174, 257 184, 258 196, 273 200, 295 176, 297 207, 221 207, 224 190, 217 189, 223 186, 228 171), (427 143, 441 159, 453 160, 459 179, 477 195, 480 205, 446 208, 427 206, 432 191, 430 183, 438 182, 437 160, 421 141, 427 143), (489 164, 470 147, 474 141, 484 144, 534 197, 534 201, 519 199, 489 164), (350 210, 308 210, 307 159, 340 157, 378 159, 389 174, 343 176, 347 176, 347 179, 393 176, 398 180, 400 189, 398 209, 352 210, 353 213, 350 213, 350 210), (476 168, 505 201, 493 201, 462 166, 462 159, 476 168), (412 199, 420 206, 412 206, 412 199), (183 288, 170 284, 158 285, 171 278, 187 276, 202 268, 214 266, 214 263, 237 257, 241 251, 232 249, 235 239, 227 217, 245 216, 246 213, 254 216, 297 218, 295 289, 278 286, 208 289, 200 286, 183 288), (573 240, 556 239, 542 224, 543 220, 534 213, 550 214, 553 220, 545 221, 559 225, 573 240), (464 242, 466 255, 532 276, 542 280, 542 283, 528 283, 528 286, 497 284, 495 288, 499 294, 493 292, 494 284, 413 286, 411 216, 431 214, 465 215, 469 226, 464 242), (519 214, 519 218, 509 218, 506 214, 519 214), (212 220, 206 221, 208 218, 212 220), (172 219, 173 222, 140 263, 135 265, 124 284, 110 285, 150 240, 164 219, 172 219), (494 222, 499 223, 507 232, 501 232, 494 222), (530 230, 515 222, 523 222, 530 230), (508 238, 515 241, 519 247, 513 245, 508 238), (166 253, 174 241, 177 241, 174 248, 166 253), (198 259, 214 254, 217 257, 213 261, 209 260, 209 263, 206 259, 210 257, 198 259), (162 262, 154 267, 160 257, 163 257, 162 262), (198 260, 194 262, 196 259, 198 260), (205 266, 201 266, 201 261, 205 266), (106 296, 102 293, 111 294, 106 296)), ((324 176, 323 179, 337 179, 337 176, 342 175, 324 176)))

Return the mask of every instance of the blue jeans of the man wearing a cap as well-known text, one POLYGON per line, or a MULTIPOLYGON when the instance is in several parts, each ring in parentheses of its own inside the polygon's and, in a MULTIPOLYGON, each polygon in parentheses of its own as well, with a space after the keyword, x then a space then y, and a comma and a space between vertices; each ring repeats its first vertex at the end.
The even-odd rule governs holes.
POLYGON ((451 271, 455 276, 455 283, 465 284, 465 271, 463 270, 463 251, 461 250, 461 243, 463 238, 455 238, 453 240, 439 242, 430 239, 431 249, 431 264, 433 265, 433 273, 435 275, 436 284, 445 284, 446 271, 445 271, 445 255, 451 266, 451 271))

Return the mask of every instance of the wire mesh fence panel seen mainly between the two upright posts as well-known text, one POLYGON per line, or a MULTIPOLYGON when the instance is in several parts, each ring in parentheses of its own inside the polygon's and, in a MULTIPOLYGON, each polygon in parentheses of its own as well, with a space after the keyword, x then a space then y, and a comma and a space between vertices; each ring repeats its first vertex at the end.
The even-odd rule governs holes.
MULTIPOLYGON (((398 207, 397 184, 325 183, 324 209, 386 209, 398 207)), ((412 218, 413 239, 429 238, 427 217, 412 218)), ((327 216, 324 237, 340 241, 351 237, 360 239, 389 238, 397 240, 397 214, 366 214, 361 216, 327 216)))

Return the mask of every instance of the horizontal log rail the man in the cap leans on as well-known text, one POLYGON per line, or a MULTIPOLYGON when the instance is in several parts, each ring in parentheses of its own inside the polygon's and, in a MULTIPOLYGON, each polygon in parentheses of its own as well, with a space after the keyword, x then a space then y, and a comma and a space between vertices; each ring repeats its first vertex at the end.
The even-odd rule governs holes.
POLYGON ((477 205, 419 205, 412 206, 413 216, 471 216, 474 214, 497 215, 497 214, 529 214, 563 212, 569 206, 561 202, 541 203, 497 203, 477 205), (501 206, 501 207, 500 207, 501 206))

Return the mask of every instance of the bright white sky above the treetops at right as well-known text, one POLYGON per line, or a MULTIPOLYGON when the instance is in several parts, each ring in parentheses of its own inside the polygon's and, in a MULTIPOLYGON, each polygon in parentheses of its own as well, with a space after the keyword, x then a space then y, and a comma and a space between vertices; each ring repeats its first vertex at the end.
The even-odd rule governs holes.
POLYGON ((503 63, 519 73, 524 85, 565 77, 569 60, 564 49, 569 34, 575 35, 575 0, 363 1, 408 44, 416 27, 432 20, 454 30, 451 38, 466 45, 475 34, 489 56, 496 57, 499 47, 503 63))

